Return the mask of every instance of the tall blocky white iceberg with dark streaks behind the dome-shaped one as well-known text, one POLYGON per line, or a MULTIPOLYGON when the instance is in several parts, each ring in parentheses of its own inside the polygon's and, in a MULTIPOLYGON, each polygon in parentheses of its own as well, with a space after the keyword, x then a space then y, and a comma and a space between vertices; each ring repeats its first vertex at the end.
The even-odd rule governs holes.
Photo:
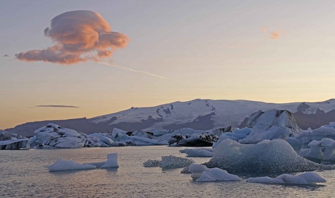
POLYGON ((301 132, 293 114, 288 110, 257 111, 250 115, 247 126, 253 128, 240 143, 254 144, 262 140, 285 139, 301 132))

